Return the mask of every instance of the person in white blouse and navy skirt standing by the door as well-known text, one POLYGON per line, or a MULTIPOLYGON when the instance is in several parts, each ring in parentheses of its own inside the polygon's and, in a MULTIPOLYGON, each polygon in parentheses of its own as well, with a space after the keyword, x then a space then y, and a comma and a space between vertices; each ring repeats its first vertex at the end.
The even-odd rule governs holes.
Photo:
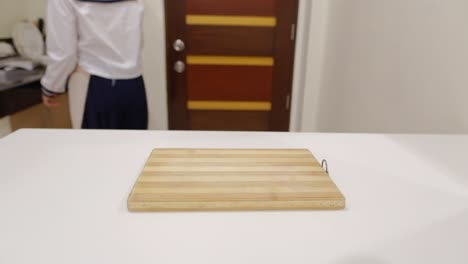
POLYGON ((143 0, 49 0, 44 104, 68 90, 74 128, 147 129, 143 12, 143 0))

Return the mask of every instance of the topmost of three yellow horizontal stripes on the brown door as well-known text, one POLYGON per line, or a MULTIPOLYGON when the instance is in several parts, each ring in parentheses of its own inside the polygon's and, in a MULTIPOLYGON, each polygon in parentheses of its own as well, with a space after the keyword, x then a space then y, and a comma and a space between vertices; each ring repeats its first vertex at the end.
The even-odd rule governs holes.
POLYGON ((275 27, 276 18, 266 16, 187 15, 187 25, 275 27))

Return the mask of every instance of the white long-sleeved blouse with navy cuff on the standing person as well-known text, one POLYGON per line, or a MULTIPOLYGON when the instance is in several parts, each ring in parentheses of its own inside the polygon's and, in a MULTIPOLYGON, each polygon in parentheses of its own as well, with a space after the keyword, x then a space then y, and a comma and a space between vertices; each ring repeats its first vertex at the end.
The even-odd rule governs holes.
POLYGON ((43 93, 64 93, 77 66, 107 79, 141 76, 143 12, 143 0, 49 0, 43 93))

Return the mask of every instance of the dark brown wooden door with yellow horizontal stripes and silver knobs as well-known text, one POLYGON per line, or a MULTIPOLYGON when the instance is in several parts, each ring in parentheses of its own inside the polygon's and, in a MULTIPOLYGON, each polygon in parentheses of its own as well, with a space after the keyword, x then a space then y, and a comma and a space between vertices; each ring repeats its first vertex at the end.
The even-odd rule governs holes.
POLYGON ((169 126, 288 131, 297 0, 166 0, 169 126))

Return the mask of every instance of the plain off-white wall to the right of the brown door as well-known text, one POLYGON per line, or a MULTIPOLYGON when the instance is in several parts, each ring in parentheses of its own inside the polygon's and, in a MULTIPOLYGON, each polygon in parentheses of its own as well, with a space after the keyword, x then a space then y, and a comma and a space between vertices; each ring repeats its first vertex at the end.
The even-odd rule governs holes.
POLYGON ((325 58, 307 69, 304 130, 468 133, 467 1, 329 2, 314 11, 327 33, 309 60, 325 58))

